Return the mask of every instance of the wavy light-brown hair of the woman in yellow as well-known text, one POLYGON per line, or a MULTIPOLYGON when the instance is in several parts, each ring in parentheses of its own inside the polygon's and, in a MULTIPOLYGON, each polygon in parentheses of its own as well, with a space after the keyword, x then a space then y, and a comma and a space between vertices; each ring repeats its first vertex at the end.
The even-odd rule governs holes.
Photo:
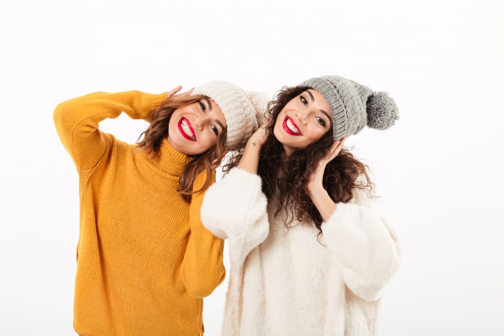
MULTIPOLYGON (((151 159, 157 157, 159 155, 161 142, 164 138, 168 137, 168 123, 173 111, 179 107, 196 103, 203 98, 206 98, 206 96, 194 95, 166 99, 156 110, 150 113, 149 119, 151 123, 149 127, 140 134, 137 140, 137 144, 139 145, 137 150, 146 153, 151 159), (144 136, 144 138, 139 141, 142 136, 144 136)), ((224 129, 217 137, 217 144, 215 146, 205 153, 189 155, 192 160, 185 165, 182 176, 180 176, 178 180, 177 187, 177 192, 186 202, 191 202, 194 193, 200 192, 210 185, 212 162, 222 158, 226 139, 227 129, 224 129), (193 183, 196 176, 203 171, 207 172, 205 184, 200 190, 193 190, 193 183)))

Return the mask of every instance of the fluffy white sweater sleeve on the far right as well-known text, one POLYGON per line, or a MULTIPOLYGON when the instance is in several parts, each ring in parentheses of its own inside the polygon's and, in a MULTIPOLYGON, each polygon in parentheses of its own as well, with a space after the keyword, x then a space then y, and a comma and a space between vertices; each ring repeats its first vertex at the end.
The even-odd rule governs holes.
POLYGON ((350 203, 338 203, 322 232, 345 285, 366 301, 381 297, 400 263, 400 245, 376 200, 359 189, 350 203))

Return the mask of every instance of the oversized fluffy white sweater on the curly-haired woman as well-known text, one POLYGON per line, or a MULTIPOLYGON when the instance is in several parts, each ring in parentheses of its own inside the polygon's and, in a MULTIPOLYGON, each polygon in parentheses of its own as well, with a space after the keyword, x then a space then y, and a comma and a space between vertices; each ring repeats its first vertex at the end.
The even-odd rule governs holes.
MULTIPOLYGON (((223 335, 375 335, 382 289, 400 250, 376 201, 338 203, 322 234, 274 220, 261 178, 239 168, 206 192, 201 215, 229 242, 223 335)), ((292 224, 295 224, 293 222, 292 224)))

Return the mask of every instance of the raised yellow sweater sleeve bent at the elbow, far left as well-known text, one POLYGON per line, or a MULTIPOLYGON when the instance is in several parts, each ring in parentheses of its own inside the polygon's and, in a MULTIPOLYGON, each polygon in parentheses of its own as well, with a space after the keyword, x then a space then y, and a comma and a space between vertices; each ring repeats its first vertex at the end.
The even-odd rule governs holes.
POLYGON ((98 163, 107 147, 107 138, 98 129, 100 121, 116 118, 122 111, 133 119, 150 121, 149 112, 161 105, 166 98, 166 93, 95 92, 56 106, 54 124, 59 139, 74 160, 77 170, 85 170, 98 163))

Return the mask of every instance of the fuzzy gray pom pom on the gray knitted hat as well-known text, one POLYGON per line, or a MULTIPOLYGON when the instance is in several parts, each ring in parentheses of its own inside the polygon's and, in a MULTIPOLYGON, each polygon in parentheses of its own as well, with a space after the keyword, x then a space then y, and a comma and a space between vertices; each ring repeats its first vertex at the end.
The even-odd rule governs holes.
POLYGON ((399 119, 396 102, 387 92, 375 92, 367 98, 367 126, 387 129, 399 119))

